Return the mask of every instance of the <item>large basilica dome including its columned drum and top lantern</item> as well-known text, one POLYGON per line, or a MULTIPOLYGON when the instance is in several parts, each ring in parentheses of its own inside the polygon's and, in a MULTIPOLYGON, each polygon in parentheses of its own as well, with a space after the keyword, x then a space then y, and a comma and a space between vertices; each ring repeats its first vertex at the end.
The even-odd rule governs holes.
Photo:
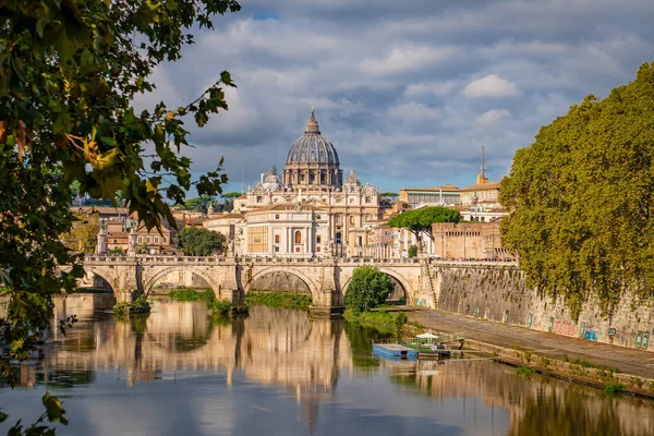
POLYGON ((343 172, 334 145, 320 134, 318 121, 312 108, 304 134, 291 146, 282 171, 282 183, 287 186, 311 186, 315 189, 339 187, 343 172))

